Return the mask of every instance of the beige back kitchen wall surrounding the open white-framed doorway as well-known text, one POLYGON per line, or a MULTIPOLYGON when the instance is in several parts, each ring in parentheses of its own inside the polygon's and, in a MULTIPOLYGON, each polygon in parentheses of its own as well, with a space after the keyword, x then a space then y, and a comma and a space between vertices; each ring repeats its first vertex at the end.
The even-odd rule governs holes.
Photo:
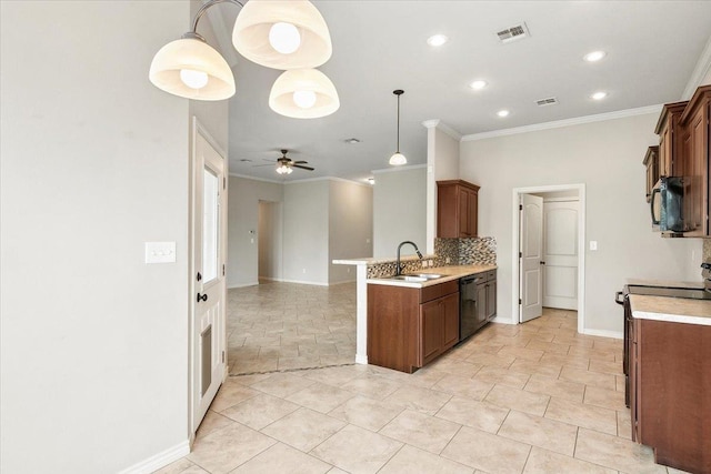
POLYGON ((481 185, 479 232, 497 239, 499 315, 513 319, 512 190, 584 183, 585 329, 621 332, 613 303, 629 278, 700 280, 701 240, 662 239, 651 231, 644 200, 642 158, 654 135, 657 114, 462 141, 460 177, 481 185), (585 244, 587 248, 588 244, 585 244))

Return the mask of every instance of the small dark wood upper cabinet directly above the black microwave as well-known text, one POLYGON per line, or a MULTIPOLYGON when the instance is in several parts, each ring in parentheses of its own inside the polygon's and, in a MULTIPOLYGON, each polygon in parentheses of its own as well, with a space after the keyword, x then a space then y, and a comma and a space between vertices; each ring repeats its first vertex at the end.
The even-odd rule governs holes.
POLYGON ((681 114, 687 103, 665 104, 657 122, 654 133, 659 135, 660 177, 681 177, 683 174, 681 114))

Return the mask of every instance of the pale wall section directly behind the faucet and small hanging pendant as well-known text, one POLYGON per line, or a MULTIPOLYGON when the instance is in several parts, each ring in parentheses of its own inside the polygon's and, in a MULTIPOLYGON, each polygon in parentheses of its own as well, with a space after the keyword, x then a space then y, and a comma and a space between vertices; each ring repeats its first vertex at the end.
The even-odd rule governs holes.
MULTIPOLYGON (((374 172, 373 256, 393 258, 398 244, 413 241, 427 249, 427 169, 410 167, 374 172)), ((403 255, 414 254, 410 246, 403 255)))

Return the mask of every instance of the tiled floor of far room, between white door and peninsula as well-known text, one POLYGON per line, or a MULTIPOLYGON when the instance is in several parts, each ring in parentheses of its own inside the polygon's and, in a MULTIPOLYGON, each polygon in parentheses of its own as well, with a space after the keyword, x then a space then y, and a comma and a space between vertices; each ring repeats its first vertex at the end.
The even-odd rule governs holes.
POLYGON ((230 375, 352 364, 356 283, 263 283, 228 291, 230 375))

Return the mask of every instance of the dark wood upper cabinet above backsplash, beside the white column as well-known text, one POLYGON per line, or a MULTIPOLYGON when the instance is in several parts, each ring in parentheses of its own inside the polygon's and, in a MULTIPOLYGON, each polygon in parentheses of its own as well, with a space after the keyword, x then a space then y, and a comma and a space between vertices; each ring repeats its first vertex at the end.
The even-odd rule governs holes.
POLYGON ((475 238, 479 186, 462 180, 437 182, 437 236, 475 238))

